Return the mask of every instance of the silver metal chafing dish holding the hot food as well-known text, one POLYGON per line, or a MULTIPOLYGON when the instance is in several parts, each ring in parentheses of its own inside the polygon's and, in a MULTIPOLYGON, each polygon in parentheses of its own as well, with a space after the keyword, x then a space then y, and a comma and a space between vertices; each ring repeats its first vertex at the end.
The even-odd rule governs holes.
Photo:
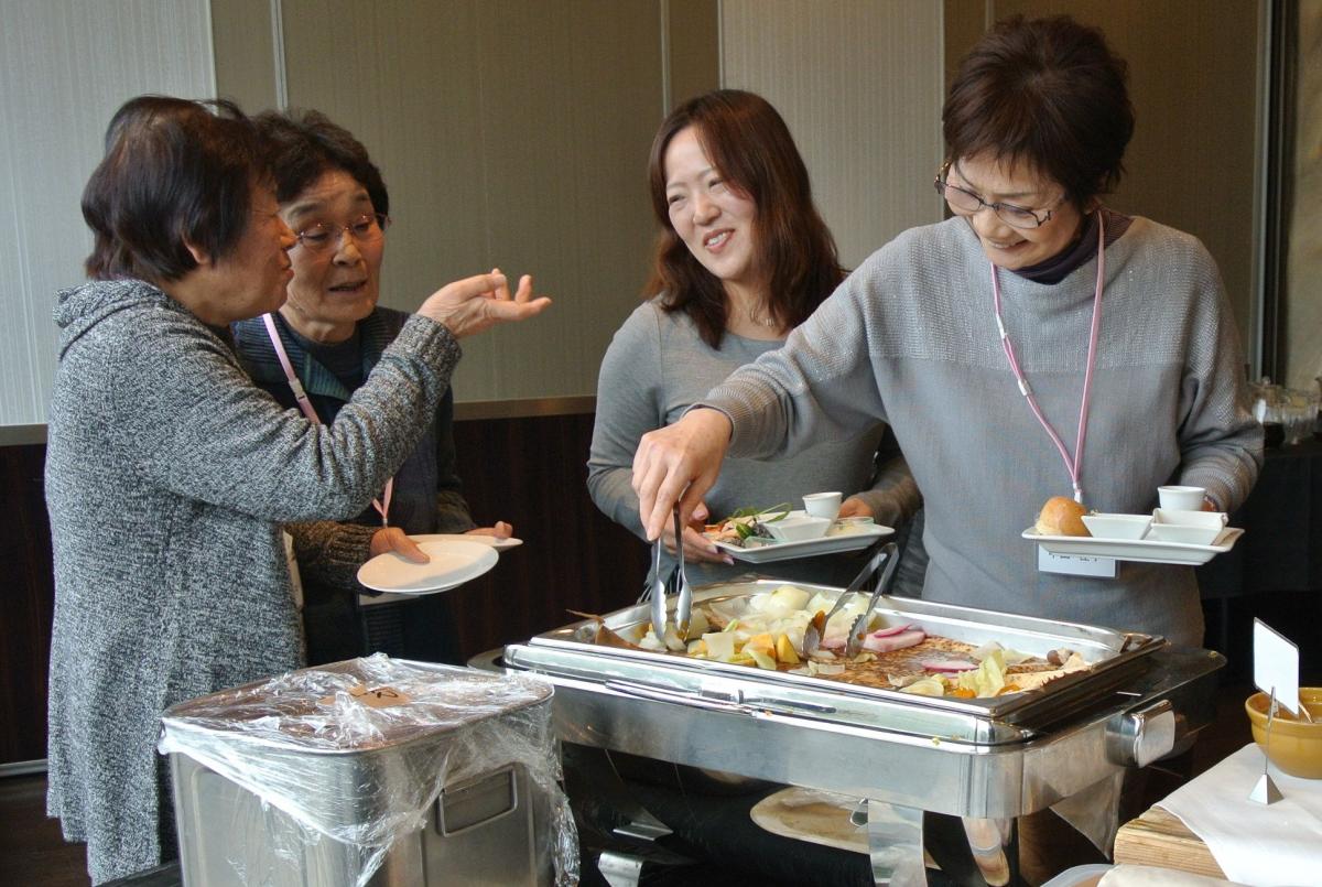
MULTIPOLYGON (((709 586, 694 600, 780 584, 709 586)), ((1036 654, 1067 646, 1092 668, 1031 693, 917 697, 603 646, 591 620, 506 646, 501 664, 555 683, 562 740, 866 800, 874 876, 891 884, 925 883, 923 812, 962 817, 970 834, 998 831, 1013 842, 1013 817, 1118 788, 1125 768, 1182 747, 1215 714, 1224 658, 1210 650, 906 598, 883 598, 876 612, 970 644, 995 640, 1036 654)), ((604 625, 637 637, 648 620, 639 605, 605 616, 604 625)), ((1113 797, 1110 805, 1114 818, 1113 797)))

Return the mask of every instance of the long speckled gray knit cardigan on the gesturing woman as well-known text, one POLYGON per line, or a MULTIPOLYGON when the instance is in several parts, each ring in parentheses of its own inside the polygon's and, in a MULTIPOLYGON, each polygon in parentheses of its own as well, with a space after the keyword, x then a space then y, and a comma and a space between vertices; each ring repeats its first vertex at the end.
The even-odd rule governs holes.
POLYGON ((175 855, 160 713, 300 664, 279 523, 358 514, 431 422, 459 346, 410 320, 317 427, 143 282, 61 292, 56 323, 48 810, 100 883, 175 855))

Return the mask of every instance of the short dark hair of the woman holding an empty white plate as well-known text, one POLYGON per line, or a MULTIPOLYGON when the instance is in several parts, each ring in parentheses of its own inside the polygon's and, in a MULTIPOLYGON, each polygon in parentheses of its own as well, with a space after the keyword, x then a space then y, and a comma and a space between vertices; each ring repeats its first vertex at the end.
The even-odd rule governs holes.
POLYGON ((267 143, 275 200, 288 204, 317 178, 341 169, 368 190, 371 208, 390 212, 390 194, 368 149, 320 111, 266 111, 255 118, 267 143))

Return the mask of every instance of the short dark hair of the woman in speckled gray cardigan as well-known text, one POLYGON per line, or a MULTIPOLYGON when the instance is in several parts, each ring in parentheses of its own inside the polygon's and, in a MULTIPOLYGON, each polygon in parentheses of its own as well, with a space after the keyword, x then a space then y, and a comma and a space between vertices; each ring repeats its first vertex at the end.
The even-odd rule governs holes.
POLYGON ((95 279, 178 280, 189 245, 223 259, 250 225, 267 177, 251 120, 231 102, 139 95, 106 130, 106 153, 83 188, 95 279))

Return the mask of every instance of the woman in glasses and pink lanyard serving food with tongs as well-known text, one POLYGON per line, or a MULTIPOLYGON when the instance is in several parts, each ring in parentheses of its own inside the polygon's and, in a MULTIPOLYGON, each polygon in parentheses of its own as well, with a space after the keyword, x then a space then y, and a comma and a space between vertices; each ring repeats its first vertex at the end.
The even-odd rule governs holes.
POLYGON ((1133 131, 1125 62, 1075 21, 1013 19, 962 61, 937 177, 953 218, 865 262, 785 348, 731 375, 633 464, 649 538, 726 452, 792 453, 890 422, 923 490, 923 596, 1198 645, 1191 567, 1043 570, 1043 502, 1145 513, 1157 486, 1229 512, 1261 464, 1216 264, 1101 194, 1133 131))

